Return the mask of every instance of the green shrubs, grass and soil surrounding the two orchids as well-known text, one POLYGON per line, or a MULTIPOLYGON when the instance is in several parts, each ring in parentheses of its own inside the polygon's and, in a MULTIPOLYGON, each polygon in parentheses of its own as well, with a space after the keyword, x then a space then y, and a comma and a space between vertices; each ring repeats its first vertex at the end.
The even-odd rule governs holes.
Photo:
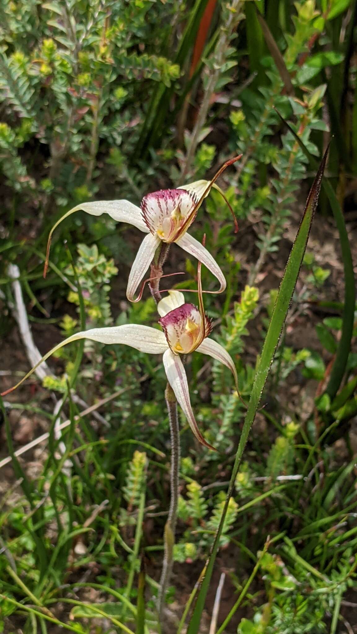
MULTIPOLYGON (((206 295, 205 304, 248 400, 316 162, 332 139, 229 503, 199 630, 210 634, 357 632, 356 20, 355 0, 0 2, 4 389, 29 368, 14 278, 42 354, 78 328, 157 320, 148 292, 139 304, 126 301, 139 237, 110 218, 78 212, 64 221, 44 280, 48 232, 65 211, 95 199, 140 204, 145 193, 212 176, 242 153, 220 182, 238 234, 213 191, 194 235, 206 233, 227 278, 226 294, 206 295)), ((187 279, 176 287, 196 288, 196 263, 173 246, 167 272, 178 270, 187 279)), ((204 288, 214 283, 203 271, 204 288)), ((62 625, 102 634, 126 624, 156 632, 152 597, 170 497, 163 368, 93 342, 57 359, 43 385, 35 378, 6 403, 1 458, 13 460, 0 458, 0 631, 56 634, 62 625), (69 384, 73 398, 62 401, 69 384), (96 417, 76 418, 91 404, 96 417), (59 414, 69 421, 62 434, 59 414), (43 432, 49 438, 17 460, 13 452, 43 432)), ((166 614, 167 631, 178 633, 245 414, 226 368, 195 355, 189 367, 197 420, 218 452, 198 446, 182 417, 166 614)))

